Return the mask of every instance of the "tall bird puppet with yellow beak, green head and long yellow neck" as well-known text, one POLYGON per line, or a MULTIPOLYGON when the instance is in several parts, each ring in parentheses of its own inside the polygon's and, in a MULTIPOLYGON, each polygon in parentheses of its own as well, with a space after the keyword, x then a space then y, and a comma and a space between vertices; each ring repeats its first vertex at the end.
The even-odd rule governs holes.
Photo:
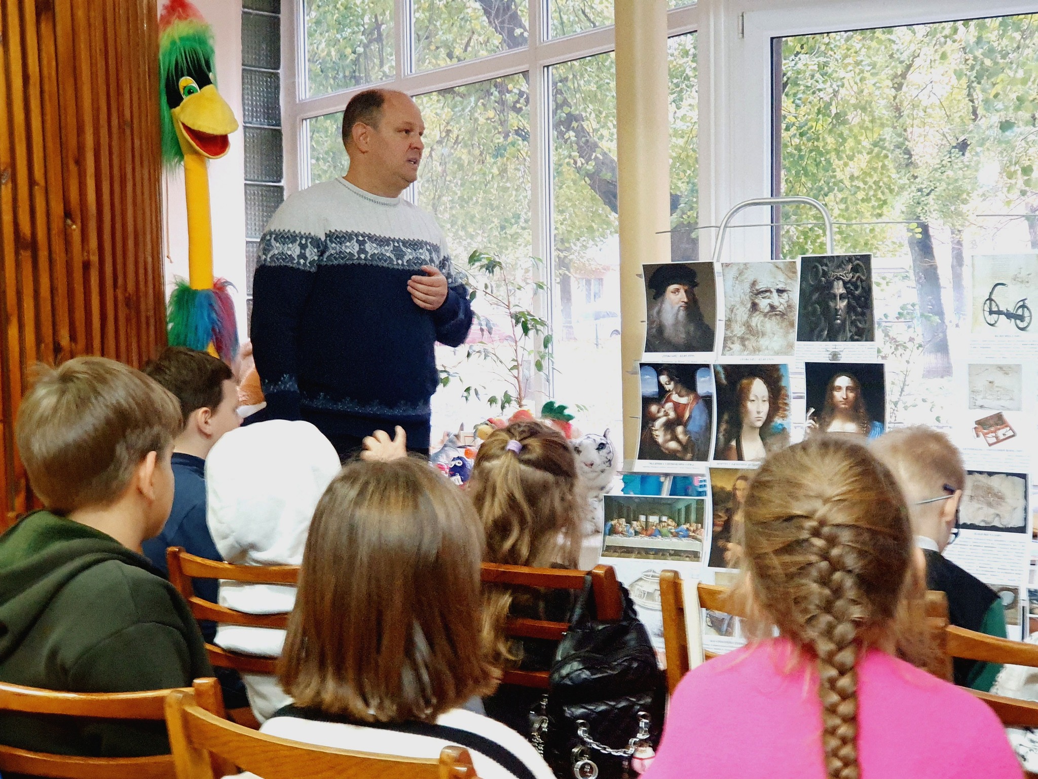
POLYGON ((162 159, 184 165, 188 211, 188 280, 169 298, 169 344, 209 351, 226 362, 238 353, 235 303, 225 278, 213 278, 209 163, 230 149, 238 130, 216 90, 213 30, 188 0, 168 0, 159 18, 162 159))

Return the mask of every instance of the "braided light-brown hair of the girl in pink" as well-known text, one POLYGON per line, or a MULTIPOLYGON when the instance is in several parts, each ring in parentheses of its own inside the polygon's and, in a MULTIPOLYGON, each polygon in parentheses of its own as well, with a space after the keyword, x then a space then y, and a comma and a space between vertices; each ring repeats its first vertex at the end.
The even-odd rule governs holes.
POLYGON ((826 775, 858 779, 857 662, 911 629, 909 596, 922 608, 901 491, 864 446, 818 435, 765 460, 744 516, 754 603, 817 663, 826 775))

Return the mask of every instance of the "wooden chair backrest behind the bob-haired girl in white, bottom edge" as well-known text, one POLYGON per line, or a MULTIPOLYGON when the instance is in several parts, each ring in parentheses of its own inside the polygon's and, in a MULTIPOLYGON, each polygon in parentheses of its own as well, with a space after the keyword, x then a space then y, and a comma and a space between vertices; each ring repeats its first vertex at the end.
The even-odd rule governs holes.
POLYGON ((177 779, 215 779, 213 755, 264 779, 475 779, 472 758, 461 747, 421 759, 305 745, 214 717, 190 690, 170 693, 166 725, 177 779))

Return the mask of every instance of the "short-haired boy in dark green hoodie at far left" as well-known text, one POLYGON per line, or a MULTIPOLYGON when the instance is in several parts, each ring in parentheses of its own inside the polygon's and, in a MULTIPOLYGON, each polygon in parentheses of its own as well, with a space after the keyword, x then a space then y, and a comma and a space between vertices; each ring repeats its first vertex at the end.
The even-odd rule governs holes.
MULTIPOLYGON (((16 437, 47 508, 0 536, 0 680, 100 693, 212 676, 187 603, 141 554, 173 500, 176 399, 103 357, 45 369, 16 437)), ((0 743, 70 755, 169 751, 161 722, 0 713, 0 743)))

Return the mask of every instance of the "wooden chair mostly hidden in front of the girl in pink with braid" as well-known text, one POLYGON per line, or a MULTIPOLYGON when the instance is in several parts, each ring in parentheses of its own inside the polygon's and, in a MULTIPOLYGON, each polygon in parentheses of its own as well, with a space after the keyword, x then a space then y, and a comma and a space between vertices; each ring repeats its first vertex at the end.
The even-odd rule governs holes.
MULTIPOLYGON (((663 647, 666 654, 666 686, 673 693, 688 673, 690 666, 688 654, 687 615, 685 614, 685 592, 681 575, 674 570, 660 571, 659 597, 663 615, 663 647)), ((732 602, 730 590, 718 585, 700 583, 696 586, 699 606, 702 609, 744 617, 745 614, 738 605, 732 602)), ((948 598, 943 592, 926 593, 927 623, 938 648, 944 646, 948 628, 948 598)), ((958 628, 954 628, 958 629, 958 628)), ((1036 648, 1038 649, 1038 648, 1036 648)), ((704 651, 703 659, 717 656, 714 652, 704 651)), ((946 652, 938 652, 933 664, 928 669, 941 678, 951 679, 951 660, 946 652)))

